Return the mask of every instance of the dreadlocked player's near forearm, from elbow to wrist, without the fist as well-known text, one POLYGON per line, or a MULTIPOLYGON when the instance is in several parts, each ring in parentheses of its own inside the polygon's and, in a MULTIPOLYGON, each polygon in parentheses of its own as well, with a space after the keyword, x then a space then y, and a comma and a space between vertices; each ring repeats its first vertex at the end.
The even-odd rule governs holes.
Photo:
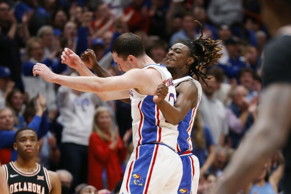
POLYGON ((179 124, 180 121, 182 121, 183 119, 182 112, 180 111, 179 108, 171 106, 165 100, 156 103, 156 105, 162 112, 167 122, 176 125, 179 124))

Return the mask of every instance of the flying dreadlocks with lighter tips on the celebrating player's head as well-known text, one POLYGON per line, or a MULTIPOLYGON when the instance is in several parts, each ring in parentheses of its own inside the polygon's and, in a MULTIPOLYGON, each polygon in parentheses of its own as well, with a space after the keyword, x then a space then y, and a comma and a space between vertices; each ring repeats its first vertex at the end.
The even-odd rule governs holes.
POLYGON ((206 84, 205 79, 211 79, 211 77, 207 77, 203 70, 214 64, 217 65, 216 61, 222 56, 222 53, 219 53, 222 50, 222 47, 219 46, 221 40, 202 38, 202 24, 197 20, 195 20, 195 22, 197 22, 201 28, 201 36, 196 40, 187 40, 180 43, 188 46, 190 55, 195 58, 194 62, 190 65, 188 74, 190 76, 196 75, 198 81, 201 78, 206 84))

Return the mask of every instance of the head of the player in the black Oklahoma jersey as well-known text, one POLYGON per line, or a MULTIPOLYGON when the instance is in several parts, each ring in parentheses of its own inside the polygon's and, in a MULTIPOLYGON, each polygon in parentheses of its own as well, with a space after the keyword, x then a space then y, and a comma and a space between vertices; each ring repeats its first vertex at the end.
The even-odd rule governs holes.
POLYGON ((37 134, 32 130, 19 132, 13 147, 17 150, 21 159, 31 159, 35 157, 39 149, 37 134))

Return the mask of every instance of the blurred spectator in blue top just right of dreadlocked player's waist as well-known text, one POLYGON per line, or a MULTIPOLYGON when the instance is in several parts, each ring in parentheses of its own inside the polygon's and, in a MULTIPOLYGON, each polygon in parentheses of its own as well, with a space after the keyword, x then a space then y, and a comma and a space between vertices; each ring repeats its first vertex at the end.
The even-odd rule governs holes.
POLYGON ((215 150, 211 131, 206 125, 202 125, 199 111, 196 113, 191 133, 193 145, 191 152, 199 159, 200 175, 202 176, 212 165, 215 150))

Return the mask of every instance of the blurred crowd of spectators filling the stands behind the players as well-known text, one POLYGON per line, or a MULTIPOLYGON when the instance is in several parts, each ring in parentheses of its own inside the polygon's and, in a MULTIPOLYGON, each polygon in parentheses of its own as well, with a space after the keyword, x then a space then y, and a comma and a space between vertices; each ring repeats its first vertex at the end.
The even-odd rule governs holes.
MULTIPOLYGON (((86 185, 118 193, 133 150, 131 106, 48 83, 33 76, 33 66, 41 62, 78 76, 60 55, 66 47, 78 55, 89 48, 103 68, 120 75, 110 50, 126 32, 140 36, 147 54, 165 64, 173 44, 201 35, 195 20, 204 38, 222 40, 223 46, 218 64, 205 71, 212 79, 208 87, 201 82, 192 130, 198 193, 205 194, 257 118, 261 55, 269 37, 259 0, 0 0, 0 136, 29 124, 42 128, 38 162, 58 173, 62 194, 86 185)), ((0 142, 2 164, 15 160, 12 144, 0 142)), ((280 192, 283 160, 278 152, 241 193, 266 194, 259 189, 268 184, 268 192, 280 192)))

